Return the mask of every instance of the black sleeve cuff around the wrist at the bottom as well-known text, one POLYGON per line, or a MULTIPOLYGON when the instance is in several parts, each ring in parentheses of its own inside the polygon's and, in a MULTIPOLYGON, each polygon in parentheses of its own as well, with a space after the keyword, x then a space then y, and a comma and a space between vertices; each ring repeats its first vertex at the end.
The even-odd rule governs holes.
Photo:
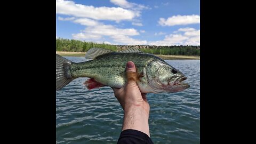
POLYGON ((121 132, 117 144, 153 144, 153 141, 148 137, 146 133, 137 130, 124 130, 121 132))

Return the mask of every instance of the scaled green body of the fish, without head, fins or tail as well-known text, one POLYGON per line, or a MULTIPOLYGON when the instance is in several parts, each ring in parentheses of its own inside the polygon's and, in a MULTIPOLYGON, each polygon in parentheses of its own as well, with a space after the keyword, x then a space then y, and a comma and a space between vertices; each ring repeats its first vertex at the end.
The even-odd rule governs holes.
POLYGON ((143 53, 110 53, 97 59, 82 63, 72 63, 70 73, 74 77, 91 77, 110 87, 123 87, 126 79, 123 72, 128 61, 133 61, 138 73, 146 67, 149 61, 157 59, 154 55, 143 53))

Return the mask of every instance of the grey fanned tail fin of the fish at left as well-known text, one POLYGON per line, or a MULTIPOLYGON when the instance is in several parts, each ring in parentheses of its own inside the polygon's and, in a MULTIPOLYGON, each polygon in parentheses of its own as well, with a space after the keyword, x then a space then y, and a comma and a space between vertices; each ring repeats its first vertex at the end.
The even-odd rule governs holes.
POLYGON ((56 91, 73 81, 69 73, 71 61, 56 54, 56 91))

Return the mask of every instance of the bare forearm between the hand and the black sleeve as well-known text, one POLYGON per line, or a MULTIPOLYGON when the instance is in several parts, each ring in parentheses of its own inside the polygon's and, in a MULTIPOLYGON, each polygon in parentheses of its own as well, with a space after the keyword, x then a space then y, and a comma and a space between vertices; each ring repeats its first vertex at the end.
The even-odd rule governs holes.
POLYGON ((132 107, 128 110, 124 110, 124 121, 123 129, 133 129, 146 133, 149 137, 149 124, 148 124, 149 114, 142 107, 132 107))

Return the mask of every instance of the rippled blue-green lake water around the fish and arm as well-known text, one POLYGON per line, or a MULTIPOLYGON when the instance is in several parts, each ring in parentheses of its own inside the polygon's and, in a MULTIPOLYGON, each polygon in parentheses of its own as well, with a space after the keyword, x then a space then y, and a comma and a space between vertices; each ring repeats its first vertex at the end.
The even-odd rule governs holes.
MULTIPOLYGON (((200 60, 166 62, 187 76, 190 88, 147 94, 150 137, 154 143, 200 143, 200 60)), ((117 143, 123 109, 110 87, 88 91, 86 79, 77 78, 56 92, 56 143, 117 143)))

